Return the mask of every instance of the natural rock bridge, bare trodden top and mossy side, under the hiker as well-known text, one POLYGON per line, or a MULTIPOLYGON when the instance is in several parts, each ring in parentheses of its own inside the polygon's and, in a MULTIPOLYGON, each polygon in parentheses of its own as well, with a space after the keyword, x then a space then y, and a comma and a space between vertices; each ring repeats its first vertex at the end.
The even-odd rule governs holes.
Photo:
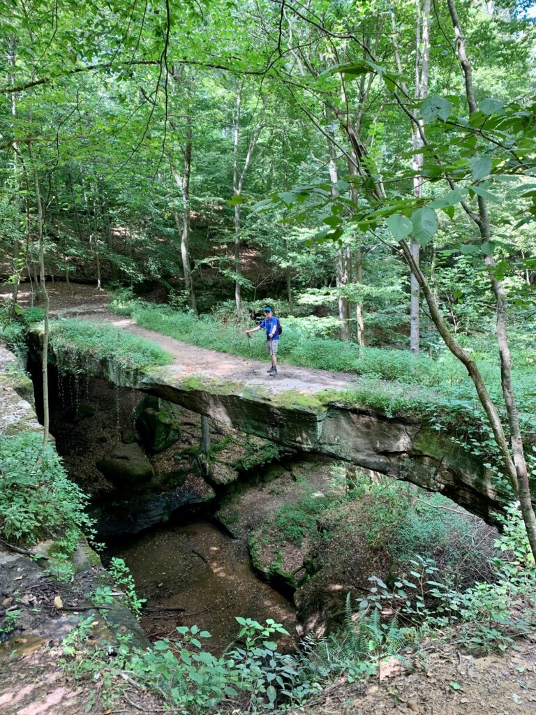
MULTIPOLYGON (((339 458, 441 492, 488 523, 497 523, 503 511, 507 494, 482 458, 466 453, 449 435, 411 416, 389 417, 337 399, 337 391, 355 389, 359 378, 283 365, 281 377, 270 381, 262 363, 187 345, 107 311, 81 317, 134 332, 174 356, 172 365, 136 374, 84 356, 84 370, 94 377, 143 390, 288 448, 339 458)), ((39 350, 39 329, 30 335, 39 350)))

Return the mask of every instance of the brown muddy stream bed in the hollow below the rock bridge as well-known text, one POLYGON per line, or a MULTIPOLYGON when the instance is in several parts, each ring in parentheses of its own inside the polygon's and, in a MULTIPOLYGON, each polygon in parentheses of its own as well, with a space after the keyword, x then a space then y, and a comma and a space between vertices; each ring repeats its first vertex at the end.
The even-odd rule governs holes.
POLYGON ((197 624, 212 634, 204 645, 221 652, 237 635, 235 616, 261 623, 273 618, 294 636, 293 604, 257 577, 242 539, 227 536, 209 521, 131 537, 111 545, 111 556, 124 559, 137 593, 147 598, 142 626, 152 640, 172 636, 176 626, 197 624), (168 610, 177 607, 184 611, 168 610))

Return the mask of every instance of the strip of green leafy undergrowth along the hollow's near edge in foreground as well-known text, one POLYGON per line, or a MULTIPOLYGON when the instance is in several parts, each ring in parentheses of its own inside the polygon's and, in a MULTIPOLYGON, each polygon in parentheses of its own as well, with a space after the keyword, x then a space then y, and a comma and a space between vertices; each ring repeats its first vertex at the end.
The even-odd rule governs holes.
POLYGON ((342 628, 329 636, 307 636, 293 654, 279 651, 275 638, 287 631, 278 623, 237 618, 237 641, 222 656, 205 648, 210 633, 181 626, 145 650, 121 638, 111 659, 102 649, 84 649, 93 627, 86 618, 64 640, 63 665, 78 679, 98 682, 109 704, 121 696, 128 676, 137 689, 152 691, 184 714, 221 711, 223 704, 237 712, 303 706, 327 684, 377 674, 385 659, 415 661, 427 637, 455 637, 463 648, 488 652, 505 650, 515 636, 530 632, 534 608, 512 610, 512 602, 525 598, 527 603, 536 589, 517 507, 510 508, 495 546, 497 553, 515 554, 507 563, 497 556, 495 583, 458 591, 436 580, 437 569, 429 561, 416 558, 408 578, 391 586, 371 576, 367 598, 354 602, 347 596, 342 628), (426 589, 432 601, 425 598, 426 589))

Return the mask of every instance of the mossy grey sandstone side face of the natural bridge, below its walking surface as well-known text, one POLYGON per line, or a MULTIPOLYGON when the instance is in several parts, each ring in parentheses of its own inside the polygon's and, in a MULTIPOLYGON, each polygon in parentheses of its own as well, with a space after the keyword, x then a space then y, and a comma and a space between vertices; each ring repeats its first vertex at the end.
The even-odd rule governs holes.
POLYGON ((284 404, 266 395, 223 392, 214 383, 184 386, 163 368, 141 378, 139 388, 238 430, 294 450, 343 459, 359 467, 439 491, 488 523, 497 523, 507 494, 482 460, 412 418, 389 418, 368 408, 339 403, 284 404))

